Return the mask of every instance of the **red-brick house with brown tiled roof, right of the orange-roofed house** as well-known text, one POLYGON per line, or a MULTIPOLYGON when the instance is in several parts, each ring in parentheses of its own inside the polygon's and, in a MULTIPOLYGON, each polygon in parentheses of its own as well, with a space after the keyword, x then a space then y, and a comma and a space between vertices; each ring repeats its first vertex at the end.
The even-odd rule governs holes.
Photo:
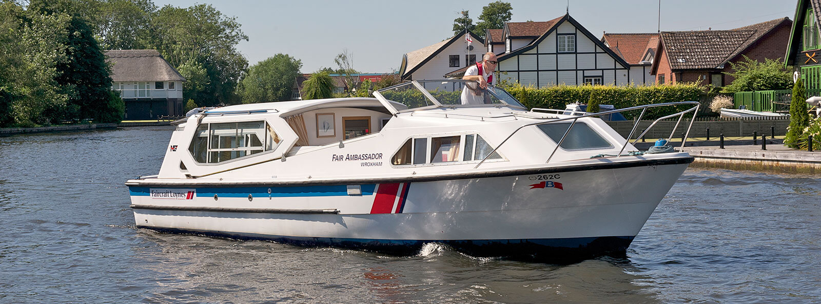
POLYGON ((792 21, 783 17, 732 30, 661 32, 650 73, 656 83, 697 82, 724 86, 734 80, 726 75, 730 62, 744 56, 755 60, 782 58, 790 38, 792 21))

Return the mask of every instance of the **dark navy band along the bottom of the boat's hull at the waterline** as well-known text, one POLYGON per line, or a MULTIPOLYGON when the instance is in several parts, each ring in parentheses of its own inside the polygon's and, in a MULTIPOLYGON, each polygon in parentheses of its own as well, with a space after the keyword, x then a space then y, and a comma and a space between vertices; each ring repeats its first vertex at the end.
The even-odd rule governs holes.
POLYGON ((336 246, 395 255, 415 255, 430 242, 452 246, 470 256, 498 256, 514 260, 537 260, 551 263, 574 263, 599 256, 626 256, 627 246, 634 237, 570 237, 525 238, 502 240, 383 240, 338 237, 284 237, 263 234, 234 234, 195 231, 177 228, 140 226, 162 233, 192 233, 209 237, 229 237, 242 240, 266 240, 296 246, 336 246))

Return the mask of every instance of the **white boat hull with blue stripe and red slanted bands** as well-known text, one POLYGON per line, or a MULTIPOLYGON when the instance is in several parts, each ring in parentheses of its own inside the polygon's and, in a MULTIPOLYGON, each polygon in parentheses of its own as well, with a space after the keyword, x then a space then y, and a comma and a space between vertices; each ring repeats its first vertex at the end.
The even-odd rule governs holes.
POLYGON ((472 256, 622 256, 692 161, 357 185, 131 187, 138 227, 407 254, 440 242, 472 256), (185 193, 165 195, 165 193, 185 193), (167 196, 174 196, 173 199, 167 196))

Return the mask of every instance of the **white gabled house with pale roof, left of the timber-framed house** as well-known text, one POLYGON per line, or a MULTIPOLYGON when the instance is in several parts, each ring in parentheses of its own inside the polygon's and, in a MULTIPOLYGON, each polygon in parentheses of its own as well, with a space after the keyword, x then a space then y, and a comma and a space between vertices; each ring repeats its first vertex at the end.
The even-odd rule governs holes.
POLYGON ((484 39, 471 33, 468 44, 465 31, 437 44, 417 49, 402 56, 399 75, 402 81, 441 80, 448 71, 466 67, 481 60, 486 53, 481 45, 484 39))

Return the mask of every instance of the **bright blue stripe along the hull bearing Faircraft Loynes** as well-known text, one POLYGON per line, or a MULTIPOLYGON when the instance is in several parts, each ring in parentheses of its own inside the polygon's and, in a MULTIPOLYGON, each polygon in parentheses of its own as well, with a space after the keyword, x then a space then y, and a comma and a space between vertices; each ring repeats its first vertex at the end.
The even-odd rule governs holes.
MULTIPOLYGON (((170 189, 173 187, 153 187, 154 189, 170 189)), ((363 196, 371 196, 374 194, 376 184, 360 185, 363 196)), ((131 196, 149 196, 151 187, 129 187, 128 191, 131 196)), ((191 188, 181 188, 191 189, 191 188)), ((197 192, 197 197, 211 197, 217 195, 219 197, 305 197, 305 196, 347 196, 348 190, 346 185, 332 185, 332 186, 293 186, 293 187, 205 187, 193 188, 197 192), (268 193, 268 190, 271 193, 268 193)))

